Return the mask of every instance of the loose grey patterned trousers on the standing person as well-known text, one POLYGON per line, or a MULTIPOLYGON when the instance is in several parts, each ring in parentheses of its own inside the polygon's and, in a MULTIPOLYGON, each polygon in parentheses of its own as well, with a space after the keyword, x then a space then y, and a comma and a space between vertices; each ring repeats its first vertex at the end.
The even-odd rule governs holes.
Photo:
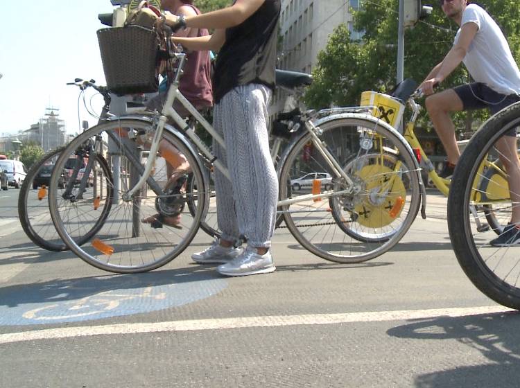
POLYGON ((271 91, 258 84, 232 89, 214 106, 214 128, 226 150, 213 142, 215 156, 232 182, 215 171, 218 227, 223 240, 244 235, 250 247, 270 247, 275 230, 278 179, 269 151, 267 107, 271 91))

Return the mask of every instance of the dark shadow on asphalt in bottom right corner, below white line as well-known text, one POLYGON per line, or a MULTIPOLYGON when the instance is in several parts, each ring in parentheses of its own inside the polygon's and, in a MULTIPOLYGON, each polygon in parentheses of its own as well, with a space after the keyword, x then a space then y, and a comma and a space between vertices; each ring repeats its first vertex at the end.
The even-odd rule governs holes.
MULTIPOLYGON (((460 366, 425 373, 415 378, 415 387, 519 387, 520 378, 519 312, 438 317, 415 321, 387 331, 392 337, 413 340, 460 342, 468 353, 479 351, 489 364, 467 365, 470 358, 457 358, 460 366)), ((447 344, 447 349, 450 344, 447 344)), ((453 364, 453 359, 447 360, 453 364)))

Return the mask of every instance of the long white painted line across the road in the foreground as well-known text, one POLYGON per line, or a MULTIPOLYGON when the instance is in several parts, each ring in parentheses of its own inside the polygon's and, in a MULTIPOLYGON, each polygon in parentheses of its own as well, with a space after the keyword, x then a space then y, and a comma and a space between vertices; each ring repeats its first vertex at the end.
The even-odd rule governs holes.
POLYGON ((225 330, 231 328, 281 327, 302 325, 352 324, 358 322, 406 321, 435 317, 468 317, 471 315, 513 312, 503 306, 474 308, 444 308, 430 310, 398 310, 374 312, 348 312, 344 314, 272 315, 267 317, 237 317, 198 319, 141 324, 114 324, 104 326, 76 326, 23 331, 0 335, 0 344, 36 340, 60 340, 92 335, 122 335, 141 333, 168 333, 176 331, 225 330))

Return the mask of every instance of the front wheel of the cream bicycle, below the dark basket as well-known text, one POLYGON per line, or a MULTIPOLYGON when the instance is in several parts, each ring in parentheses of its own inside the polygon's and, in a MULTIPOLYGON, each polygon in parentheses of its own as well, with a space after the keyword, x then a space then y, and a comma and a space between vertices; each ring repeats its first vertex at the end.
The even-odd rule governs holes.
MULTIPOLYGON (((110 272, 149 271, 179 255, 195 236, 205 206, 205 182, 196 157, 180 137, 168 132, 167 127, 160 139, 163 151, 157 155, 148 184, 131 198, 126 197, 126 193, 138 182, 149 157, 144 150, 151 139, 146 134, 155 129, 150 121, 122 119, 96 125, 76 137, 58 159, 56 168, 60 169, 69 155, 85 150, 86 145, 94 149, 91 152, 107 155, 110 159, 114 179, 113 183, 107 184, 111 185, 112 209, 95 238, 83 247, 74 239, 83 233, 82 217, 94 211, 95 198, 79 198, 76 186, 65 197, 57 191, 49 194, 51 215, 58 233, 87 263, 110 272), (171 148, 180 151, 189 163, 195 182, 193 191, 181 180, 178 181, 180 185, 173 185, 175 187, 168 183, 167 171, 178 166, 168 154, 171 148), (187 201, 193 201, 193 214, 185 206, 187 201), (161 221, 161 216, 166 219, 161 221)), ((56 179, 57 175, 53 174, 51 184, 56 179)))

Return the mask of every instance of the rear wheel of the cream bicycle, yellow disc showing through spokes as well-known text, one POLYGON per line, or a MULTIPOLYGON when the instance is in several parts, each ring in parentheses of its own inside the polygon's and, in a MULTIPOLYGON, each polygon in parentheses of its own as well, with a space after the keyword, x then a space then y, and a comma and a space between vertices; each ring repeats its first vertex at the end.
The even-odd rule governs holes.
POLYGON ((313 254, 339 263, 375 258, 399 242, 419 210, 413 155, 404 139, 359 116, 326 121, 320 128, 322 142, 357 190, 345 192, 347 183, 335 175, 306 134, 282 158, 280 200, 327 191, 333 195, 300 200, 280 211, 293 236, 313 254), (302 186, 295 178, 308 173, 325 178, 302 186))

